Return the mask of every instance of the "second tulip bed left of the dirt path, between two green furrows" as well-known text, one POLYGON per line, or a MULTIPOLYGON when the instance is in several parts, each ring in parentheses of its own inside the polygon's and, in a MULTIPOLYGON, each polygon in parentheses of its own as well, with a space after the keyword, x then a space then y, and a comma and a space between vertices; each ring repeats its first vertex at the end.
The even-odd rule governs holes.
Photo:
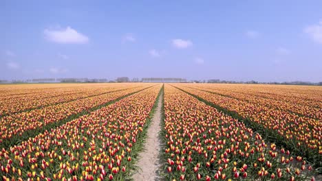
POLYGON ((104 95, 77 99, 64 104, 55 104, 45 108, 20 112, 1 117, 0 148, 16 145, 44 130, 61 125, 66 121, 85 114, 98 106, 105 106, 110 101, 152 86, 153 84, 136 85, 127 90, 119 90, 104 95), (85 113, 84 113, 85 112, 85 113))

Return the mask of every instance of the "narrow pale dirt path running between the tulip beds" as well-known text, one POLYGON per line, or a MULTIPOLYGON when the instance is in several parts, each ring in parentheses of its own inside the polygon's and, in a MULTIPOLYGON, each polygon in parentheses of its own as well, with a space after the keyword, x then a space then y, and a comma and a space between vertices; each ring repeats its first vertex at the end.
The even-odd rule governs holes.
POLYGON ((138 171, 133 174, 134 180, 160 180, 158 177, 159 169, 159 152, 160 140, 158 138, 161 130, 161 108, 163 95, 160 95, 158 100, 158 107, 155 109, 153 118, 147 130, 146 143, 144 143, 144 150, 139 154, 137 166, 138 171))

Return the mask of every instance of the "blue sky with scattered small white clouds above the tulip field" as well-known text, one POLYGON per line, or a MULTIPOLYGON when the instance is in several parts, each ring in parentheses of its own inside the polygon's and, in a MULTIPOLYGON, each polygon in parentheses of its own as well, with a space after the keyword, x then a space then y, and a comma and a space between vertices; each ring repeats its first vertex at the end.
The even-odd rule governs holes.
POLYGON ((322 81, 322 1, 0 1, 0 79, 322 81))

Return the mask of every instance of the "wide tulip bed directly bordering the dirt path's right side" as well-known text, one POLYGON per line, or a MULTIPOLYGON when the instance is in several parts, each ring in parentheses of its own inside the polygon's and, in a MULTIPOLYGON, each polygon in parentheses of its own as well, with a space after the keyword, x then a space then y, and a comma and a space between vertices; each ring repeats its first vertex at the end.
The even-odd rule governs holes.
POLYGON ((164 117, 167 180, 314 180, 300 156, 170 85, 164 117))

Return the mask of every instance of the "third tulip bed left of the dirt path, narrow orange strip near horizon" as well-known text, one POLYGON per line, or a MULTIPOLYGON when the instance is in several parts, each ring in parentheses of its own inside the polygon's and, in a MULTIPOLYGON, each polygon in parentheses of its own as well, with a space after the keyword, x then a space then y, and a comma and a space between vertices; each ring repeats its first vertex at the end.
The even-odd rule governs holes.
POLYGON ((0 117, 7 114, 14 114, 16 112, 28 111, 42 106, 49 106, 66 101, 73 101, 76 99, 83 99, 85 97, 101 95, 128 87, 131 87, 131 85, 87 85, 76 88, 50 88, 49 90, 43 90, 43 92, 40 93, 39 91, 31 91, 31 93, 28 93, 28 90, 26 90, 24 93, 18 95, 3 94, 0 97, 0 117))

